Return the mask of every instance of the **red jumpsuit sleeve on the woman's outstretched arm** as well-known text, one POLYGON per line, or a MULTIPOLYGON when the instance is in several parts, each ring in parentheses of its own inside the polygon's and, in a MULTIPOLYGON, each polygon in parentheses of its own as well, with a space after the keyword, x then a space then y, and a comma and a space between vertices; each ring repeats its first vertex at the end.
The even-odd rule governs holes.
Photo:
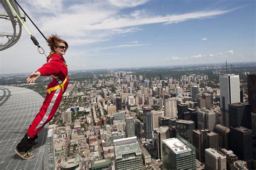
POLYGON ((56 59, 51 59, 49 62, 45 63, 41 68, 37 70, 43 76, 57 75, 59 73, 60 61, 56 59))

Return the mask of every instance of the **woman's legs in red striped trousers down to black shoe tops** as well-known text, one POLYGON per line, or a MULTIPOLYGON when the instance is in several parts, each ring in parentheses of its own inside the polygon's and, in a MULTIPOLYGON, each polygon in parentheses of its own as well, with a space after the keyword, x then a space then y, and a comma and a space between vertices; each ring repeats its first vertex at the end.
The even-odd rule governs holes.
POLYGON ((37 133, 43 129, 43 127, 51 121, 52 117, 55 115, 59 103, 62 101, 62 89, 51 91, 50 94, 47 94, 41 109, 33 120, 32 124, 29 126, 28 130, 21 143, 18 144, 20 151, 26 152, 32 148, 30 144, 33 138, 37 136, 37 133))

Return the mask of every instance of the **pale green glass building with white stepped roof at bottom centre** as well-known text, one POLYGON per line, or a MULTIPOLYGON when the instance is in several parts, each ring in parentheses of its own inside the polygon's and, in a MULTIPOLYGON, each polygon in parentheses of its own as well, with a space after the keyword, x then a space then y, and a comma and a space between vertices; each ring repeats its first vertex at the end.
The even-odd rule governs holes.
POLYGON ((142 151, 137 137, 117 139, 113 143, 116 169, 142 169, 142 151))

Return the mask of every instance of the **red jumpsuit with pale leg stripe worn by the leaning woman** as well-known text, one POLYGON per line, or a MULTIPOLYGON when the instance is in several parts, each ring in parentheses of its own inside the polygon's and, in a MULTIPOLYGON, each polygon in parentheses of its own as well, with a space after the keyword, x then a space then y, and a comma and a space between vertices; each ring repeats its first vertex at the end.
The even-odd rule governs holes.
POLYGON ((46 94, 40 111, 36 115, 28 131, 26 131, 26 133, 29 134, 30 138, 34 138, 36 134, 39 133, 41 129, 43 129, 44 125, 51 121, 53 115, 59 107, 60 101, 62 101, 62 95, 69 84, 68 67, 66 67, 63 56, 51 54, 47 60, 47 63, 45 63, 37 71, 40 72, 42 76, 58 76, 59 79, 64 82, 64 86, 63 88, 59 86, 59 82, 56 80, 55 77, 53 77, 52 82, 48 84, 47 89, 53 87, 57 88, 46 94))

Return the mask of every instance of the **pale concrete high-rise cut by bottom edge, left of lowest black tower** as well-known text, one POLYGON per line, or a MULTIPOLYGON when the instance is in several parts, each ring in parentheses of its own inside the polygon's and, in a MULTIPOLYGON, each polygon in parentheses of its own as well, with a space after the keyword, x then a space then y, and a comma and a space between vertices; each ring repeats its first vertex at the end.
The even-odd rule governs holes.
POLYGON ((205 150, 205 169, 227 169, 226 155, 215 149, 207 148, 205 150))

